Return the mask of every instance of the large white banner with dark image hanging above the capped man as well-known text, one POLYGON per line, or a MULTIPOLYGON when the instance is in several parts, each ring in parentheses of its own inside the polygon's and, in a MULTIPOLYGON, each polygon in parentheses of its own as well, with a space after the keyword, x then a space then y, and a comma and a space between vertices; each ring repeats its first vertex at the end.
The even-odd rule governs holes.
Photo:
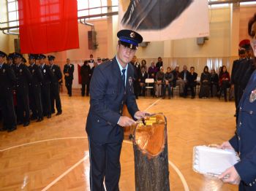
POLYGON ((209 36, 207 0, 119 0, 118 20, 143 42, 209 36))

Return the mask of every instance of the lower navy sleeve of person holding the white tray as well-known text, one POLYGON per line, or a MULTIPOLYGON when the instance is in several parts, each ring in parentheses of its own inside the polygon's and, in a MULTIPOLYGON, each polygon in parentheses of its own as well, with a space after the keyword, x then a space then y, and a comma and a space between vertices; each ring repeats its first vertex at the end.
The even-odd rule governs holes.
POLYGON ((246 184, 255 184, 256 182, 256 146, 249 152, 243 160, 235 165, 241 180, 246 184))

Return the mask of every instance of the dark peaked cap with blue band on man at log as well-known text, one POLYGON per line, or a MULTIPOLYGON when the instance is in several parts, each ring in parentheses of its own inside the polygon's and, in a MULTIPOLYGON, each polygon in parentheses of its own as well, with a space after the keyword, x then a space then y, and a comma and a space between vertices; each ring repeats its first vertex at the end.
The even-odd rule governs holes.
POLYGON ((132 50, 137 50, 139 43, 143 41, 143 37, 132 30, 121 30, 117 33, 118 39, 125 47, 129 47, 132 50))

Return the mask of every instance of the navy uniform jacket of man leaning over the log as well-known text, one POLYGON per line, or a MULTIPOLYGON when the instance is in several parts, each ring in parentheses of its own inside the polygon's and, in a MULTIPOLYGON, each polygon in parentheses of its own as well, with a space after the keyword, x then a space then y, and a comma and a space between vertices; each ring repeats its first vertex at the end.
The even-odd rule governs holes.
POLYGON ((135 101, 133 77, 134 69, 129 63, 124 87, 116 58, 94 69, 90 85, 90 109, 86 122, 86 132, 91 140, 109 143, 124 139, 123 128, 117 125, 124 104, 127 105, 131 116, 139 110, 135 101))

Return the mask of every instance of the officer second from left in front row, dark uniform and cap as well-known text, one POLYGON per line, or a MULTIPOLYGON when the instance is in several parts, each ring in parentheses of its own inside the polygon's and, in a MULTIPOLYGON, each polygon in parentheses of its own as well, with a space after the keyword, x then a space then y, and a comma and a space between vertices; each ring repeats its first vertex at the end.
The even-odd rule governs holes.
POLYGON ((23 126, 26 127, 30 123, 29 82, 31 82, 32 76, 28 66, 23 63, 23 56, 20 53, 15 52, 13 58, 16 64, 17 121, 18 125, 23 123, 23 126))

